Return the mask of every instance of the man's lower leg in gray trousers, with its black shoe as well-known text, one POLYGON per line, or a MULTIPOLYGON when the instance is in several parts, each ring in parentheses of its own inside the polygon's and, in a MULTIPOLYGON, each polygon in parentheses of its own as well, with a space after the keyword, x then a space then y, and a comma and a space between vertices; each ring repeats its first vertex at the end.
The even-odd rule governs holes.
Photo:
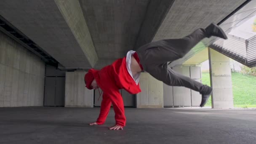
POLYGON ((198 91, 202 94, 202 101, 200 107, 203 107, 208 101, 209 96, 212 93, 212 88, 208 85, 203 85, 202 83, 197 82, 196 80, 186 77, 179 74, 168 67, 168 64, 155 65, 155 67, 149 68, 147 71, 150 75, 155 77, 157 80, 162 81, 163 83, 170 86, 184 86, 190 88, 194 91, 198 91))

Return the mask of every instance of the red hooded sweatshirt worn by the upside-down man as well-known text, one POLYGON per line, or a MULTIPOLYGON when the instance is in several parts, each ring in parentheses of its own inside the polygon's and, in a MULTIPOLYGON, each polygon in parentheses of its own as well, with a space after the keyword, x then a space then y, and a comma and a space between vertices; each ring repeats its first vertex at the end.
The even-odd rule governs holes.
POLYGON ((119 89, 125 89, 131 94, 141 92, 139 84, 136 85, 135 81, 128 73, 126 57, 117 59, 113 64, 101 70, 90 69, 89 72, 93 73, 98 86, 103 91, 101 110, 96 123, 102 125, 105 122, 112 104, 115 111, 116 125, 125 126, 126 118, 123 98, 119 89))

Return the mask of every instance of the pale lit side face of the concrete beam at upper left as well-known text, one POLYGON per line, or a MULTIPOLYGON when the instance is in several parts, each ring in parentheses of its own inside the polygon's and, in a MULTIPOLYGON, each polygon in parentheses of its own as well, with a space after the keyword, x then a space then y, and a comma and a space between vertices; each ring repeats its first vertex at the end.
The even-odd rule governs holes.
POLYGON ((98 61, 93 41, 78 0, 55 0, 91 67, 98 61))

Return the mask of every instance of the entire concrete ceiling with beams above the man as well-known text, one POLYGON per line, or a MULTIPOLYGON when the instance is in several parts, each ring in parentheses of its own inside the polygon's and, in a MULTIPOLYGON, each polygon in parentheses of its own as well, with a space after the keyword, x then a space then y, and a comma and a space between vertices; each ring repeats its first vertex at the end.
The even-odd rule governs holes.
MULTIPOLYGON (((245 1, 2 0, 0 15, 64 67, 101 68, 145 43, 219 23, 245 1)), ((184 63, 214 40, 203 40, 172 64, 184 63)))

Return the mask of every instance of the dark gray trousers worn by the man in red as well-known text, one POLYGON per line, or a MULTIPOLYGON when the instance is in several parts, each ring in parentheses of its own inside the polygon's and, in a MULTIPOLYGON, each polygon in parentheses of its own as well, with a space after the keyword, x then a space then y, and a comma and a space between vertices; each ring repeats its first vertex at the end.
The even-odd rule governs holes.
POLYGON ((202 94, 208 90, 208 86, 173 71, 171 67, 168 67, 168 61, 182 58, 205 37, 205 29, 199 28, 181 39, 166 39, 148 43, 141 46, 136 52, 143 69, 157 80, 171 86, 191 88, 202 94))

